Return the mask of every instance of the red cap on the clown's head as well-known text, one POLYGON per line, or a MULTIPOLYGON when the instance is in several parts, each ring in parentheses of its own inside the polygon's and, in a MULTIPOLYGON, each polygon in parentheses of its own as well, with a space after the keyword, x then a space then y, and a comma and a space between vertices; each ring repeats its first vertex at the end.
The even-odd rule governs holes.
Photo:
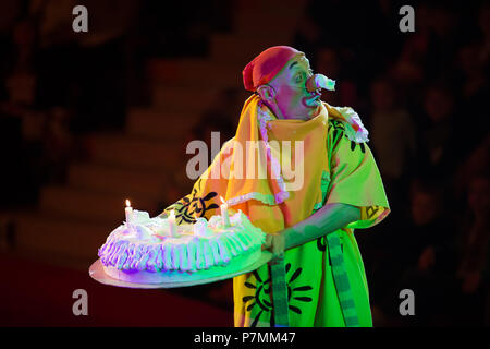
POLYGON ((254 58, 243 70, 243 85, 247 91, 270 82, 285 63, 297 55, 304 55, 289 46, 273 46, 254 58))

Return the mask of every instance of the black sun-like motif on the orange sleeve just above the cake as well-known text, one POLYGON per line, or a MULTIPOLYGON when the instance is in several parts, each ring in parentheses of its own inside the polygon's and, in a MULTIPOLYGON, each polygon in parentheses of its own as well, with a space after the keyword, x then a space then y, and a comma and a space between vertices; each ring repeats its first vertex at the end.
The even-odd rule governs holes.
POLYGON ((205 217, 209 209, 220 207, 218 204, 213 203, 208 205, 209 203, 207 203, 212 197, 218 195, 217 192, 209 192, 204 196, 198 196, 198 193, 200 193, 200 182, 201 179, 199 179, 196 183, 197 189, 195 185, 191 194, 184 196, 166 209, 166 212, 175 209, 175 219, 179 225, 182 222, 194 224, 196 222, 196 218, 205 217))

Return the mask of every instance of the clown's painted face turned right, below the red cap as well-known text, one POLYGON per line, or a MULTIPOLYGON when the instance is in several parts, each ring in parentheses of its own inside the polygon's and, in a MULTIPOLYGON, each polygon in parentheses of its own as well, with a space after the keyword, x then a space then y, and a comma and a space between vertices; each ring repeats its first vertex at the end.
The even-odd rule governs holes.
POLYGON ((268 84, 275 91, 275 107, 284 119, 309 120, 318 113, 321 94, 308 92, 306 81, 313 75, 308 59, 292 58, 268 84))

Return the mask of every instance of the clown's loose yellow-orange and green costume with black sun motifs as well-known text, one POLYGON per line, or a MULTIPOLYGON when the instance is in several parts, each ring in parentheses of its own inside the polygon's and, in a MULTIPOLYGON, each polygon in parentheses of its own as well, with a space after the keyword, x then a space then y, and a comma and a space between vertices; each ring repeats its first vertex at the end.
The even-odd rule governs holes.
MULTIPOLYGON (((193 192, 163 214, 175 209, 177 222, 209 218, 219 215, 222 196, 230 207, 241 209, 255 226, 272 233, 306 219, 328 203, 359 207, 360 220, 285 252, 287 315, 290 326, 372 326, 354 229, 380 222, 390 208, 365 143, 367 131, 357 115, 326 103, 319 109, 308 121, 277 119, 253 95, 244 105, 235 136, 223 145, 193 192), (245 152, 234 152, 237 143, 246 149, 246 141, 261 141, 259 164, 238 154, 245 152), (291 141, 291 146, 281 141, 291 141), (296 154, 298 141, 304 152, 296 154), (289 190, 295 179, 283 177, 281 169, 285 165, 291 169, 296 157, 304 166, 303 185, 289 190), (245 172, 252 165, 268 176, 247 179, 245 172), (223 168, 230 176, 217 176, 223 168), (243 178, 234 176, 241 169, 243 178)), ((274 326, 269 265, 235 277, 233 289, 235 326, 274 326)))

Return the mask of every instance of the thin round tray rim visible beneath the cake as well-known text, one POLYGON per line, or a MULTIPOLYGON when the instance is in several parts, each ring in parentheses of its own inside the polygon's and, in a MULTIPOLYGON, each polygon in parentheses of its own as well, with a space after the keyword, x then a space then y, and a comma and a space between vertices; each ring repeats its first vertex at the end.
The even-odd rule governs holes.
POLYGON ((204 284, 211 284, 217 281, 222 281, 242 274, 246 274, 249 272, 254 272, 261 267, 264 264, 268 263, 272 257, 272 253, 269 251, 262 251, 262 254, 260 257, 255 262, 254 264, 249 265, 246 268, 243 268, 242 270, 233 274, 226 274, 221 276, 215 276, 215 277, 208 277, 200 280, 194 280, 194 281, 181 281, 181 282, 161 282, 161 284, 134 284, 134 282, 127 282, 127 281, 121 281, 118 279, 114 279, 107 275, 103 272, 102 263, 100 260, 97 260, 94 262, 93 265, 90 265, 90 268, 88 269, 88 274, 90 277, 100 284, 110 285, 110 286, 117 286, 117 287, 127 287, 127 288, 176 288, 176 287, 188 287, 188 286, 195 286, 195 285, 204 285, 204 284))

